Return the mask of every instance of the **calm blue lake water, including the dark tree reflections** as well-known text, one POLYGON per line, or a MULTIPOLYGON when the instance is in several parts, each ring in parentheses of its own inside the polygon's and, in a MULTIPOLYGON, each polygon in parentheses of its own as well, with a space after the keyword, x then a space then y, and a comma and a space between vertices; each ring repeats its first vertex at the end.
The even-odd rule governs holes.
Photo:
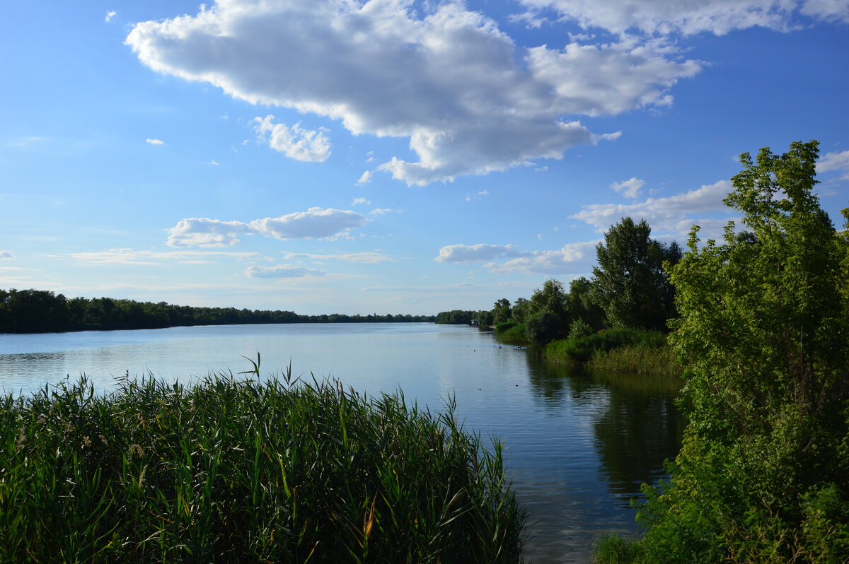
POLYGON ((173 327, 141 331, 0 334, 0 388, 29 393, 85 372, 97 388, 153 374, 190 382, 208 371, 336 377, 457 415, 498 436, 520 503, 530 508, 535 562, 586 562, 604 532, 634 533, 630 500, 678 453, 682 423, 667 378, 576 374, 500 346, 492 333, 433 324, 173 327))

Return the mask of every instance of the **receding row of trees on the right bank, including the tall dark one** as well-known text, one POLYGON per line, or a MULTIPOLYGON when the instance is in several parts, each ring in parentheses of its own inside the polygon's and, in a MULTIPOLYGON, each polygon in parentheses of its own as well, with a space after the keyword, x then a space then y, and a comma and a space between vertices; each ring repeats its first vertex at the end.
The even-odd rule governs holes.
POLYGON ((443 311, 436 322, 478 320, 481 327, 503 329, 523 324, 527 339, 541 344, 610 327, 666 331, 666 321, 678 314, 664 263, 678 264, 681 248, 650 234, 646 221, 622 218, 597 245, 593 276, 572 280, 568 291, 563 282, 550 279, 531 299, 519 298, 512 304, 498 299, 492 310, 443 311))

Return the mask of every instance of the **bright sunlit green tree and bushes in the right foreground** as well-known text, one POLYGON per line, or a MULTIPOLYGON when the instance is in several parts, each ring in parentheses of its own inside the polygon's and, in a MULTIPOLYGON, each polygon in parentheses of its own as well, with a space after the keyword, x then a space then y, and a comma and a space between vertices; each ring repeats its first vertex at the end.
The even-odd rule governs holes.
POLYGON ((743 154, 725 202, 751 230, 670 265, 689 429, 649 491, 645 561, 849 560, 846 238, 813 193, 817 142, 743 154))

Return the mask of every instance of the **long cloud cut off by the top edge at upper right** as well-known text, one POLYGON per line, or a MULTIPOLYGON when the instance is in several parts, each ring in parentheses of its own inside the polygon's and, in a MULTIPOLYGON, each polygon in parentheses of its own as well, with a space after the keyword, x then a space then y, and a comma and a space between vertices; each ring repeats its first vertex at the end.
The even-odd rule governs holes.
POLYGON ((692 35, 708 31, 717 36, 759 26, 786 31, 796 12, 815 20, 849 21, 846 0, 520 0, 531 8, 523 19, 538 22, 539 10, 552 9, 563 20, 583 28, 600 27, 613 33, 692 35))

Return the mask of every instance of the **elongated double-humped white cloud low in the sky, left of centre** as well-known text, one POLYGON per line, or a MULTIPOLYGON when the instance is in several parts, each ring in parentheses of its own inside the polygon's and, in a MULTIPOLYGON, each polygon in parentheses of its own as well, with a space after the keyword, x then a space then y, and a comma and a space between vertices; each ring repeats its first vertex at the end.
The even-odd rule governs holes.
POLYGON ((294 214, 243 223, 191 217, 168 230, 170 247, 225 247, 239 243, 239 235, 260 234, 275 239, 339 237, 368 223, 368 218, 346 209, 310 208, 294 214))

